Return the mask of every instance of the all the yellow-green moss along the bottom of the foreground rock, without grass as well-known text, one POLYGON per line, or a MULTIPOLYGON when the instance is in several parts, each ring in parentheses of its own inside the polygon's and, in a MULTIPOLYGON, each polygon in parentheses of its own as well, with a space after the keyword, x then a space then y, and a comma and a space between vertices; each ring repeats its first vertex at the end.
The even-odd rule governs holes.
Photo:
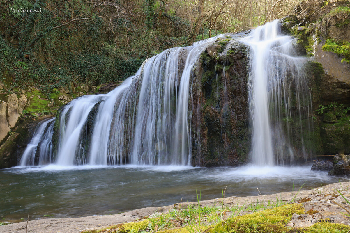
MULTIPOLYGON (((97 230, 83 231, 82 233, 98 233, 110 229, 119 233, 140 233, 140 232, 159 232, 159 233, 188 233, 188 232, 206 232, 206 233, 252 233, 252 232, 273 232, 273 233, 345 233, 350 230, 350 226, 334 223, 315 223, 309 227, 292 228, 286 224, 292 219, 292 215, 303 214, 303 204, 287 204, 273 209, 257 211, 251 214, 233 217, 214 225, 196 224, 195 225, 167 225, 172 218, 167 215, 166 218, 149 218, 140 222, 131 222, 126 224, 118 224, 97 230), (161 227, 158 231, 154 231, 155 226, 161 227)), ((309 211, 310 214, 317 211, 309 211)), ((215 211, 216 213, 216 211, 215 211)), ((179 216, 176 216, 179 218, 179 216)), ((187 217, 185 217, 187 218, 187 217)), ((327 220, 327 219, 325 219, 327 220)))

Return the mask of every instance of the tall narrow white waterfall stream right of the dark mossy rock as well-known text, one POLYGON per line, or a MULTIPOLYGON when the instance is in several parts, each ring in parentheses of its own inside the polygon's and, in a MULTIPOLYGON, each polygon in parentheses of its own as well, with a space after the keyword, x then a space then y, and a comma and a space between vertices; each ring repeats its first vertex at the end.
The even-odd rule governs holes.
MULTIPOLYGON (((279 21, 275 20, 256 28, 241 41, 251 49, 248 100, 253 164, 293 162, 296 153, 293 131, 298 131, 301 151, 306 156, 302 119, 309 117, 312 108, 303 71, 307 58, 298 56, 296 38, 283 35, 279 21), (300 128, 294 129, 295 125, 300 128)), ((310 128, 309 123, 306 125, 310 128)))

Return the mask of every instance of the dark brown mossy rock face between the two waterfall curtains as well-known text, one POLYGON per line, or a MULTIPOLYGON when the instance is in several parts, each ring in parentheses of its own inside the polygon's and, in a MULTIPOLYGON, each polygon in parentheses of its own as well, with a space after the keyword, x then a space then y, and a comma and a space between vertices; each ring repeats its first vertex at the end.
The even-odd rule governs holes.
MULTIPOLYGON (((236 166, 246 161, 250 140, 247 97, 247 47, 224 39, 220 57, 201 55, 192 115, 192 164, 236 166), (230 46, 228 45, 230 44, 230 46), (223 55, 225 54, 225 55, 223 55)), ((210 47, 208 47, 210 48, 210 47)))

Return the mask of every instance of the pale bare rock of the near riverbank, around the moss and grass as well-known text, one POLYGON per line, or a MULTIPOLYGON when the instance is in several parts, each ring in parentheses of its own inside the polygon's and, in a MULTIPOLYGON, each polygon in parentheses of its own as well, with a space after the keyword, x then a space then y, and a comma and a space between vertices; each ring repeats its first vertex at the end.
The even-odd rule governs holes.
MULTIPOLYGON (((307 184, 305 184, 307 186, 307 184)), ((350 182, 334 183, 320 188, 310 190, 294 190, 292 192, 281 192, 273 195, 260 195, 250 197, 226 197, 217 198, 211 200, 204 200, 200 202, 200 206, 219 206, 224 210, 230 210, 230 207, 237 207, 240 211, 223 211, 221 212, 222 220, 227 220, 232 216, 241 216, 252 214, 257 211, 267 211, 270 209, 268 206, 270 203, 279 203, 291 206, 296 204, 298 210, 293 215, 288 216, 290 219, 284 227, 304 229, 304 227, 313 226, 315 223, 322 221, 328 221, 323 224, 334 224, 327 225, 327 227, 344 227, 350 226, 350 219, 348 211, 350 211, 350 205, 346 203, 346 200, 350 200, 350 182), (339 190, 340 193, 337 191, 339 190), (342 196, 343 195, 343 196, 342 196), (269 204, 267 204, 269 203, 269 204), (255 208, 252 208, 255 206, 255 208), (264 207, 265 206, 265 207, 264 207), (345 208, 345 209, 344 209, 345 208), (340 225, 339 225, 340 224, 340 225)), ((28 221, 27 232, 35 233, 47 233, 47 232, 71 232, 79 233, 82 231, 90 231, 97 228, 108 228, 105 232, 113 232, 116 230, 116 224, 121 227, 122 223, 135 223, 149 221, 152 217, 159 217, 162 214, 166 216, 169 211, 181 211, 186 208, 196 208, 197 202, 191 203, 175 203, 174 205, 161 206, 161 207, 148 207, 143 209, 137 209, 125 213, 105 215, 105 216, 89 216, 82 218, 61 218, 61 219, 39 219, 28 221), (150 218, 150 219, 147 219, 150 218), (146 219, 146 220, 144 220, 146 219)), ((277 207, 280 208, 280 207, 277 207)), ((232 210, 232 208, 231 208, 232 210)), ((264 213, 264 212, 261 212, 264 213)), ((220 214, 220 213, 219 213, 220 214)), ((225 221, 226 222, 226 221, 225 221)), ((229 222, 229 220, 227 221, 229 222)), ((5 226, 0 226, 0 233, 24 233, 26 232, 26 221, 21 223, 14 223, 5 226)), ((146 225, 147 225, 146 224, 146 225)), ((210 223, 209 223, 210 224, 210 223)), ((210 228, 210 227, 209 227, 210 228)), ((208 229, 209 229, 208 228, 208 229)), ((349 227, 350 229, 350 227, 349 227)), ((169 231, 169 229, 163 229, 163 231, 169 231)), ((184 230, 182 228, 176 228, 175 232, 184 230)), ((174 232, 174 230, 171 230, 174 232)), ((99 232, 99 231, 97 231, 99 232)), ((346 231, 345 231, 346 232, 346 231)))

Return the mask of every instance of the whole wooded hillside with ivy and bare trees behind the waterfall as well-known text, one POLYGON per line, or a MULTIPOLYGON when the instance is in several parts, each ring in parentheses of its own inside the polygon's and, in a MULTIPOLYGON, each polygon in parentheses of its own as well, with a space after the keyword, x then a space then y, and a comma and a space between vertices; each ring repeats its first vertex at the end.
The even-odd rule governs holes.
POLYGON ((291 13, 299 0, 0 1, 0 77, 44 93, 133 75, 148 57, 291 13), (41 9, 18 13, 13 9, 41 9))

